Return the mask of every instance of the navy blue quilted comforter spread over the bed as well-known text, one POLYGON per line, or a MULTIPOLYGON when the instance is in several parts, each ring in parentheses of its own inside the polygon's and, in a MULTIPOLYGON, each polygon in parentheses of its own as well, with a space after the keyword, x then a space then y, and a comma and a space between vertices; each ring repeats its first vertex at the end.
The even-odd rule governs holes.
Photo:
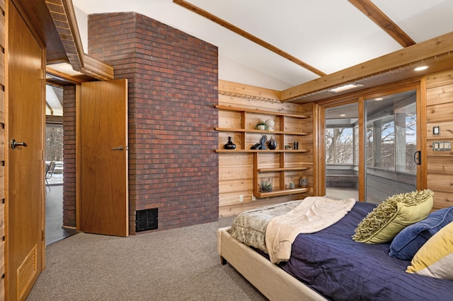
POLYGON ((453 281, 406 273, 411 262, 390 257, 390 244, 352 240, 374 206, 357 202, 331 227, 299 234, 280 266, 331 300, 453 300, 453 281))

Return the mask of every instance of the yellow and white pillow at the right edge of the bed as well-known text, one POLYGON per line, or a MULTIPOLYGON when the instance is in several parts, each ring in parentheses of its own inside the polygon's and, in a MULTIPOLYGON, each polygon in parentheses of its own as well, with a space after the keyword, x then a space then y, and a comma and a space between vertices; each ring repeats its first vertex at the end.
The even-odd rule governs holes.
POLYGON ((453 280, 453 223, 449 223, 423 244, 406 272, 453 280))

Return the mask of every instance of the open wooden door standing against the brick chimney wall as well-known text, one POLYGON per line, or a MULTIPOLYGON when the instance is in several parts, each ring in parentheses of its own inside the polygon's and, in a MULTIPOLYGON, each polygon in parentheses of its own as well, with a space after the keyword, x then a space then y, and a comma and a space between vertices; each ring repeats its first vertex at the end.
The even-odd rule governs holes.
POLYGON ((79 230, 129 235, 127 81, 81 85, 79 230))

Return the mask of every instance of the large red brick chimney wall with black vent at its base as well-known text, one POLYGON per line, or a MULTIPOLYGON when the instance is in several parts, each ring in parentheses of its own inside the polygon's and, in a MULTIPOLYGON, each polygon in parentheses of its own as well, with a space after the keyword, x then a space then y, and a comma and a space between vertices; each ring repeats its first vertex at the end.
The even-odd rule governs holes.
POLYGON ((146 208, 160 230, 217 220, 217 47, 137 13, 89 16, 88 45, 129 82, 131 234, 146 208))

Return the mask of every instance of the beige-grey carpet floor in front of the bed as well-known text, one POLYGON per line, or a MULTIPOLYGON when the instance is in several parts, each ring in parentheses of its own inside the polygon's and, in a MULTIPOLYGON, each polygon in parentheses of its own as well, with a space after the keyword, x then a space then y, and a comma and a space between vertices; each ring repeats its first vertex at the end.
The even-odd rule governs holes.
POLYGON ((266 300, 220 264, 217 228, 231 221, 130 237, 73 235, 47 246, 47 268, 27 300, 266 300))

